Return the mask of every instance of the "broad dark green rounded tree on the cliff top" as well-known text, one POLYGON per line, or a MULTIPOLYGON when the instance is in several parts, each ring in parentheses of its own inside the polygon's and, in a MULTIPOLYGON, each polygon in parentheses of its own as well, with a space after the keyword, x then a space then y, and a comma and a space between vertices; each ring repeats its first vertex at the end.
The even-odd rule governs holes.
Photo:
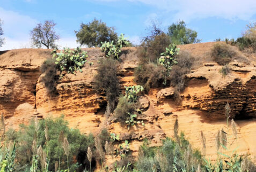
POLYGON ((81 29, 75 31, 77 42, 81 45, 87 45, 89 47, 99 47, 101 42, 111 42, 118 39, 118 35, 115 33, 114 27, 108 27, 105 22, 94 19, 88 24, 81 24, 81 29))

